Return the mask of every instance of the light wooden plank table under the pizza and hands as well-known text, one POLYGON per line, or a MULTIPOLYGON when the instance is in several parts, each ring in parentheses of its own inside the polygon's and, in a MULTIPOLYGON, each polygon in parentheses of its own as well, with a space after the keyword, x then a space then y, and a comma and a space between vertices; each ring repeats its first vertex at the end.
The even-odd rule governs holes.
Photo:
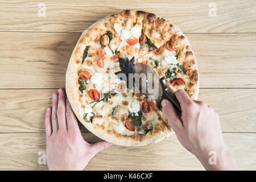
MULTIPOLYGON (((255 170, 255 6, 256 1, 238 0, 0 2, 0 169, 48 169, 38 163, 46 151, 44 114, 52 93, 65 86, 81 32, 109 14, 135 9, 168 19, 187 35, 199 65, 199 100, 220 114, 225 143, 238 166, 255 170), (38 15, 40 2, 46 16, 38 15), (209 14, 214 5, 216 16, 209 14)), ((88 142, 100 140, 81 131, 88 142)), ((173 135, 145 147, 112 146, 85 169, 204 168, 173 135)))

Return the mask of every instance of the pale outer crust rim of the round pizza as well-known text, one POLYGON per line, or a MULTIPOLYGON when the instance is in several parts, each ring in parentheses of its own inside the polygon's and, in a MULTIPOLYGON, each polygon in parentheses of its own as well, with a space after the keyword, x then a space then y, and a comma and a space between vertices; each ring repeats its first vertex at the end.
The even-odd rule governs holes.
MULTIPOLYGON (((130 13, 136 14, 137 16, 147 16, 148 21, 152 23, 154 22, 154 19, 158 19, 159 22, 156 24, 158 25, 158 30, 162 30, 163 34, 168 36, 170 39, 170 36, 172 36, 172 32, 166 32, 166 29, 164 29, 163 26, 161 26, 160 22, 166 22, 166 20, 159 18, 158 16, 150 13, 145 13, 144 11, 132 11, 132 10, 125 10, 122 11, 119 14, 115 14, 116 16, 122 15, 122 16, 129 16, 130 13), (162 29, 161 29, 162 28, 162 29), (170 34, 170 35, 168 35, 170 34)), ((112 18, 115 15, 110 15, 107 16, 104 19, 98 20, 96 23, 93 23, 92 26, 87 28, 84 32, 82 32, 82 35, 80 36, 80 39, 78 40, 76 47, 74 48, 72 52, 71 59, 69 60, 68 68, 67 68, 67 73, 66 73, 66 92, 67 92, 67 97, 69 102, 71 103, 72 109, 74 113, 76 114, 77 118, 79 121, 88 129, 91 133, 96 135, 97 137, 104 139, 110 143, 113 144, 118 144, 121 146, 144 146, 152 143, 157 143, 163 140, 164 138, 170 137, 170 135, 174 134, 174 131, 172 131, 170 125, 163 125, 159 127, 155 127, 153 130, 148 131, 146 135, 139 135, 136 134, 133 137, 127 137, 126 135, 115 135, 112 131, 106 132, 105 130, 101 129, 96 129, 94 125, 90 122, 85 122, 84 119, 81 117, 80 114, 80 103, 79 103, 79 93, 77 89, 77 80, 78 80, 78 74, 77 70, 79 69, 79 65, 81 64, 81 55, 82 55, 82 46, 89 44, 90 42, 94 41, 97 39, 98 36, 101 36, 105 32, 106 23, 111 23, 110 18, 112 18)), ((112 19, 113 20, 113 19, 112 19)), ((167 21, 167 23, 169 23, 167 21)), ((191 59, 189 57, 192 57, 193 63, 193 69, 192 71, 197 72, 197 64, 196 64, 196 59, 195 55, 193 54, 193 51, 191 49, 191 46, 185 37, 183 33, 177 28, 174 24, 169 25, 172 28, 172 31, 175 31, 175 41, 179 42, 180 39, 182 38, 182 44, 180 45, 176 42, 174 42, 174 46, 183 46, 183 49, 187 49, 187 52, 192 52, 187 53, 185 56, 185 59, 191 59)), ((188 61, 192 61, 188 60, 188 61)), ((189 62, 190 63, 190 62, 189 62)), ((192 68, 192 67, 189 67, 192 68)), ((199 94, 199 75, 197 72, 197 80, 195 81, 195 85, 193 85, 193 91, 190 94, 191 98, 196 100, 197 96, 199 94)), ((171 87, 170 87, 171 88, 171 87)), ((171 88, 174 90, 174 88, 171 88)), ((175 91, 175 90, 174 90, 175 91)), ((165 119, 164 119, 165 120, 165 119)), ((166 121, 165 121, 166 122, 166 121)))

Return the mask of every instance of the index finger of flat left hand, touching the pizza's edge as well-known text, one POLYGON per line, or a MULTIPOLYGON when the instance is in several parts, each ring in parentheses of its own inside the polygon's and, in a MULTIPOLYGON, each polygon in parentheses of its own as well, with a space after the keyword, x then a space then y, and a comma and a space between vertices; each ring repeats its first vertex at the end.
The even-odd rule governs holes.
POLYGON ((66 99, 66 118, 67 118, 67 125, 69 131, 76 131, 79 129, 79 125, 77 123, 76 116, 72 110, 72 107, 68 101, 68 97, 66 99))

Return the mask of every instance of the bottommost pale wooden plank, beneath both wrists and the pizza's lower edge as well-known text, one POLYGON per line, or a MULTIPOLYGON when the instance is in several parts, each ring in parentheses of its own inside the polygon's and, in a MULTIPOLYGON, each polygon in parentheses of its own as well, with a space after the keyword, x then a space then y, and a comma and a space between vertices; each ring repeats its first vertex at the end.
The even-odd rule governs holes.
MULTIPOLYGON (((82 133, 89 143, 99 139, 82 133)), ((238 166, 255 170, 255 134, 224 134, 225 143, 238 166)), ((1 170, 47 170, 38 164, 38 152, 46 151, 45 134, 0 134, 1 170)), ((85 170, 204 170, 199 160, 175 135, 144 147, 111 146, 90 160, 85 170)))

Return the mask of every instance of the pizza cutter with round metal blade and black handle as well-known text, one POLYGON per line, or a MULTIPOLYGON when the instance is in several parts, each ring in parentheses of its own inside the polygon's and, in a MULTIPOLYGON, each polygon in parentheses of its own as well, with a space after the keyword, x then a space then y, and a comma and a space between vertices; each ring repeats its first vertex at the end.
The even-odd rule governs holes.
POLYGON ((135 64, 133 74, 135 92, 139 91, 152 100, 169 100, 174 105, 179 117, 181 116, 179 101, 168 88, 166 78, 162 77, 159 80, 158 73, 144 63, 135 64))

